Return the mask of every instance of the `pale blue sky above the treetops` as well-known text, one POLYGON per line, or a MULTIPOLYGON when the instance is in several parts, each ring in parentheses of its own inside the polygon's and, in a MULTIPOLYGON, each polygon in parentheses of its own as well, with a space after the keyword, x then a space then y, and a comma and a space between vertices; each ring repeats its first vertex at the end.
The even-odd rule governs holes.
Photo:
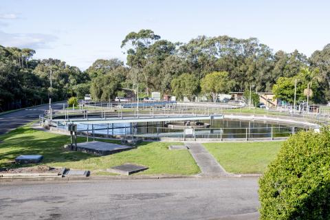
POLYGON ((201 35, 256 37, 274 52, 310 56, 330 43, 329 8, 326 0, 0 0, 0 45, 87 69, 98 58, 126 61, 126 34, 151 29, 183 43, 201 35))

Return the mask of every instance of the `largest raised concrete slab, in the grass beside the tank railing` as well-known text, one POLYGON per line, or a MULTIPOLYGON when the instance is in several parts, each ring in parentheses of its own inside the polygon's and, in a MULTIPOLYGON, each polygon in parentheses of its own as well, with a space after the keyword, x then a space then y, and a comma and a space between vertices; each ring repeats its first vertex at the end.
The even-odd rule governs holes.
POLYGON ((121 151, 128 151, 133 148, 133 146, 94 141, 78 143, 76 151, 103 156, 118 153, 121 151))

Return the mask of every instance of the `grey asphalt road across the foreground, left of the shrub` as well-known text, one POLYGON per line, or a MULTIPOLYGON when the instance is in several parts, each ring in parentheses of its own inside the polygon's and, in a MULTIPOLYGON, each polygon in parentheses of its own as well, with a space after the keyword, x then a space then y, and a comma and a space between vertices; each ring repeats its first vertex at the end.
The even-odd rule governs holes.
POLYGON ((1 219, 258 219, 256 178, 0 185, 1 219), (232 217, 228 217, 232 216, 232 217))

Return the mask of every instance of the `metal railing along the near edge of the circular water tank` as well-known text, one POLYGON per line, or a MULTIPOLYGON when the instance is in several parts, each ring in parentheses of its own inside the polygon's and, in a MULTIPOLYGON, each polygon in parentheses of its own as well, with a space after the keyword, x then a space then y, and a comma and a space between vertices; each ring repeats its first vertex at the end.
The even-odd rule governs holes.
MULTIPOLYGON (((45 119, 41 118, 43 125, 45 119)), ((58 120, 48 121, 53 131, 67 132, 67 122, 58 120)), ((133 138, 141 137, 144 140, 278 140, 285 139, 298 131, 313 129, 309 126, 267 126, 267 127, 217 127, 217 128, 175 128, 170 129, 162 124, 151 126, 131 126, 129 124, 78 124, 78 135, 87 137, 133 138)))

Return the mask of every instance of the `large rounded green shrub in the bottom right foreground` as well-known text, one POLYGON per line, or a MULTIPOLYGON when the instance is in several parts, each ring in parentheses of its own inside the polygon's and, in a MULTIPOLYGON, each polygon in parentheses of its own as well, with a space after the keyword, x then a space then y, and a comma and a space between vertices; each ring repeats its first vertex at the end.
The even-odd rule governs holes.
POLYGON ((289 137, 259 186, 261 219, 330 219, 330 127, 289 137))

